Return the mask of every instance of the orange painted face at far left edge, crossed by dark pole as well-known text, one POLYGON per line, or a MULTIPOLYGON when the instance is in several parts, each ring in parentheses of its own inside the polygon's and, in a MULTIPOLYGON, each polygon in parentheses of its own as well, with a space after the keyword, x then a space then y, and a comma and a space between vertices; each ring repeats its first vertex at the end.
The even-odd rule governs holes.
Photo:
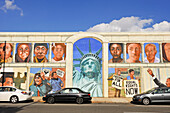
MULTIPOLYGON (((0 55, 1 55, 1 58, 4 59, 4 51, 3 51, 3 47, 5 46, 5 43, 2 43, 0 44, 0 55)), ((5 59, 8 59, 10 56, 11 56, 11 52, 12 52, 12 48, 10 46, 9 43, 6 43, 6 57, 5 59)))

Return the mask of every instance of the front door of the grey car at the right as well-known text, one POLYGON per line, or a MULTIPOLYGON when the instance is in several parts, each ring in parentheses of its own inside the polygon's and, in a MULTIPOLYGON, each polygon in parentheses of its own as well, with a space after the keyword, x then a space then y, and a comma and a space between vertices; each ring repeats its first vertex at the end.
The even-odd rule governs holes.
POLYGON ((152 102, 163 102, 164 101, 164 89, 159 88, 155 89, 153 93, 151 94, 151 100, 152 102))

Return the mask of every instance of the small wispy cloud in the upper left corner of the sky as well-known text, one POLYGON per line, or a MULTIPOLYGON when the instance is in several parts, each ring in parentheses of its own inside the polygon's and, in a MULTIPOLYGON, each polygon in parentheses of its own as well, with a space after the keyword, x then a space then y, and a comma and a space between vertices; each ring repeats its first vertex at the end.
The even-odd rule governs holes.
POLYGON ((15 5, 14 2, 14 0, 5 0, 5 5, 2 6, 0 9, 2 9, 4 12, 7 12, 7 10, 19 10, 20 15, 23 16, 23 10, 15 5))

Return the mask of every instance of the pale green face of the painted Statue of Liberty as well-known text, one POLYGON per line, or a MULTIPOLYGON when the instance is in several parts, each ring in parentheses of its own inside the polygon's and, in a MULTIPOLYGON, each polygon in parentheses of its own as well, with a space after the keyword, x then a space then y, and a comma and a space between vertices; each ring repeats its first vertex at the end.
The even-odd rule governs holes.
POLYGON ((95 62, 92 59, 85 61, 83 64, 83 72, 87 77, 93 78, 95 73, 97 73, 97 68, 95 62))

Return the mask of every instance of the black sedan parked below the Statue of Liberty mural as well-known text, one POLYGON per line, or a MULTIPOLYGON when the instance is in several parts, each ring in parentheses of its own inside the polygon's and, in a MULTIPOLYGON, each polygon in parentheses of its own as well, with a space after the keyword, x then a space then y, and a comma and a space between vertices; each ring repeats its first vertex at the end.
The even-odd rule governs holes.
POLYGON ((78 104, 82 104, 85 101, 91 101, 91 97, 89 92, 84 92, 79 88, 64 88, 60 91, 45 95, 43 101, 49 104, 55 101, 75 101, 78 104))

